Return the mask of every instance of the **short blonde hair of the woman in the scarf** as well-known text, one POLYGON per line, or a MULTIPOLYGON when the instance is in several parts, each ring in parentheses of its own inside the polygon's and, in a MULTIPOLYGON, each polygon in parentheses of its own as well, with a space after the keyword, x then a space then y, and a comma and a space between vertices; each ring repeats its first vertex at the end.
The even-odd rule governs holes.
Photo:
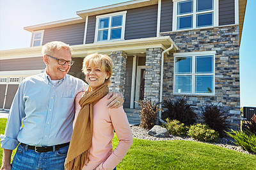
POLYGON ((105 55, 105 54, 98 54, 98 53, 94 53, 94 54, 90 54, 88 56, 86 56, 84 58, 83 61, 83 68, 82 68, 82 72, 84 74, 86 74, 86 68, 91 65, 91 66, 95 66, 95 65, 100 65, 101 70, 107 72, 109 74, 108 79, 106 79, 106 83, 109 84, 110 81, 110 77, 113 73, 112 71, 112 59, 105 55))

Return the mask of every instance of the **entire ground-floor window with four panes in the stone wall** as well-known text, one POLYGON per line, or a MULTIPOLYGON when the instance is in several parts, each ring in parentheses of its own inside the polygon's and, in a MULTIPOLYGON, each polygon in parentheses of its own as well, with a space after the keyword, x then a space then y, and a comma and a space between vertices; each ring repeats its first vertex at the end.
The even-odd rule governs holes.
POLYGON ((175 54, 174 93, 214 94, 215 52, 175 54))

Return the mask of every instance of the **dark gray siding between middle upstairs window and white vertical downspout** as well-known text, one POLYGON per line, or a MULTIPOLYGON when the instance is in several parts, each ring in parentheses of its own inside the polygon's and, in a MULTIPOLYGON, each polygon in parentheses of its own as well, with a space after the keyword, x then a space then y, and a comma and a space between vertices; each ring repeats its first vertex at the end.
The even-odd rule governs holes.
POLYGON ((156 37, 157 5, 127 10, 125 40, 156 37))

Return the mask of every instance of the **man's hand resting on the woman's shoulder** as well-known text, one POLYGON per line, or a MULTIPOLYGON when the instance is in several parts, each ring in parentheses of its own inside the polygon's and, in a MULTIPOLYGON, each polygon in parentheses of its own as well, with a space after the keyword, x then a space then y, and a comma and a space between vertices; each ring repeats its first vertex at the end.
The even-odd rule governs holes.
POLYGON ((118 108, 124 104, 124 96, 120 92, 110 92, 108 93, 108 103, 107 106, 112 108, 118 108))

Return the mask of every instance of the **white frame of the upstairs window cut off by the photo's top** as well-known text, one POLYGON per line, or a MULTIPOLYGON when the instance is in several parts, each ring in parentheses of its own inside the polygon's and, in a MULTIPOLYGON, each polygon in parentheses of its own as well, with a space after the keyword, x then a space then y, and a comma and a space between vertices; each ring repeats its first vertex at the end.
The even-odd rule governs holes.
MULTIPOLYGON (((205 11, 205 12, 196 12, 196 0, 193 1, 193 24, 192 28, 188 29, 177 29, 177 8, 178 8, 178 2, 182 1, 188 1, 188 0, 173 0, 173 24, 172 24, 172 30, 173 31, 182 31, 182 30, 189 30, 189 29, 202 29, 202 28, 207 28, 207 27, 216 27, 219 26, 219 0, 213 0, 213 10, 205 11), (196 14, 201 14, 201 13, 213 13, 213 24, 212 26, 205 26, 205 27, 196 27, 196 14)), ((184 14, 184 15, 179 15, 179 17, 182 16, 188 16, 191 15, 189 14, 184 14)))

